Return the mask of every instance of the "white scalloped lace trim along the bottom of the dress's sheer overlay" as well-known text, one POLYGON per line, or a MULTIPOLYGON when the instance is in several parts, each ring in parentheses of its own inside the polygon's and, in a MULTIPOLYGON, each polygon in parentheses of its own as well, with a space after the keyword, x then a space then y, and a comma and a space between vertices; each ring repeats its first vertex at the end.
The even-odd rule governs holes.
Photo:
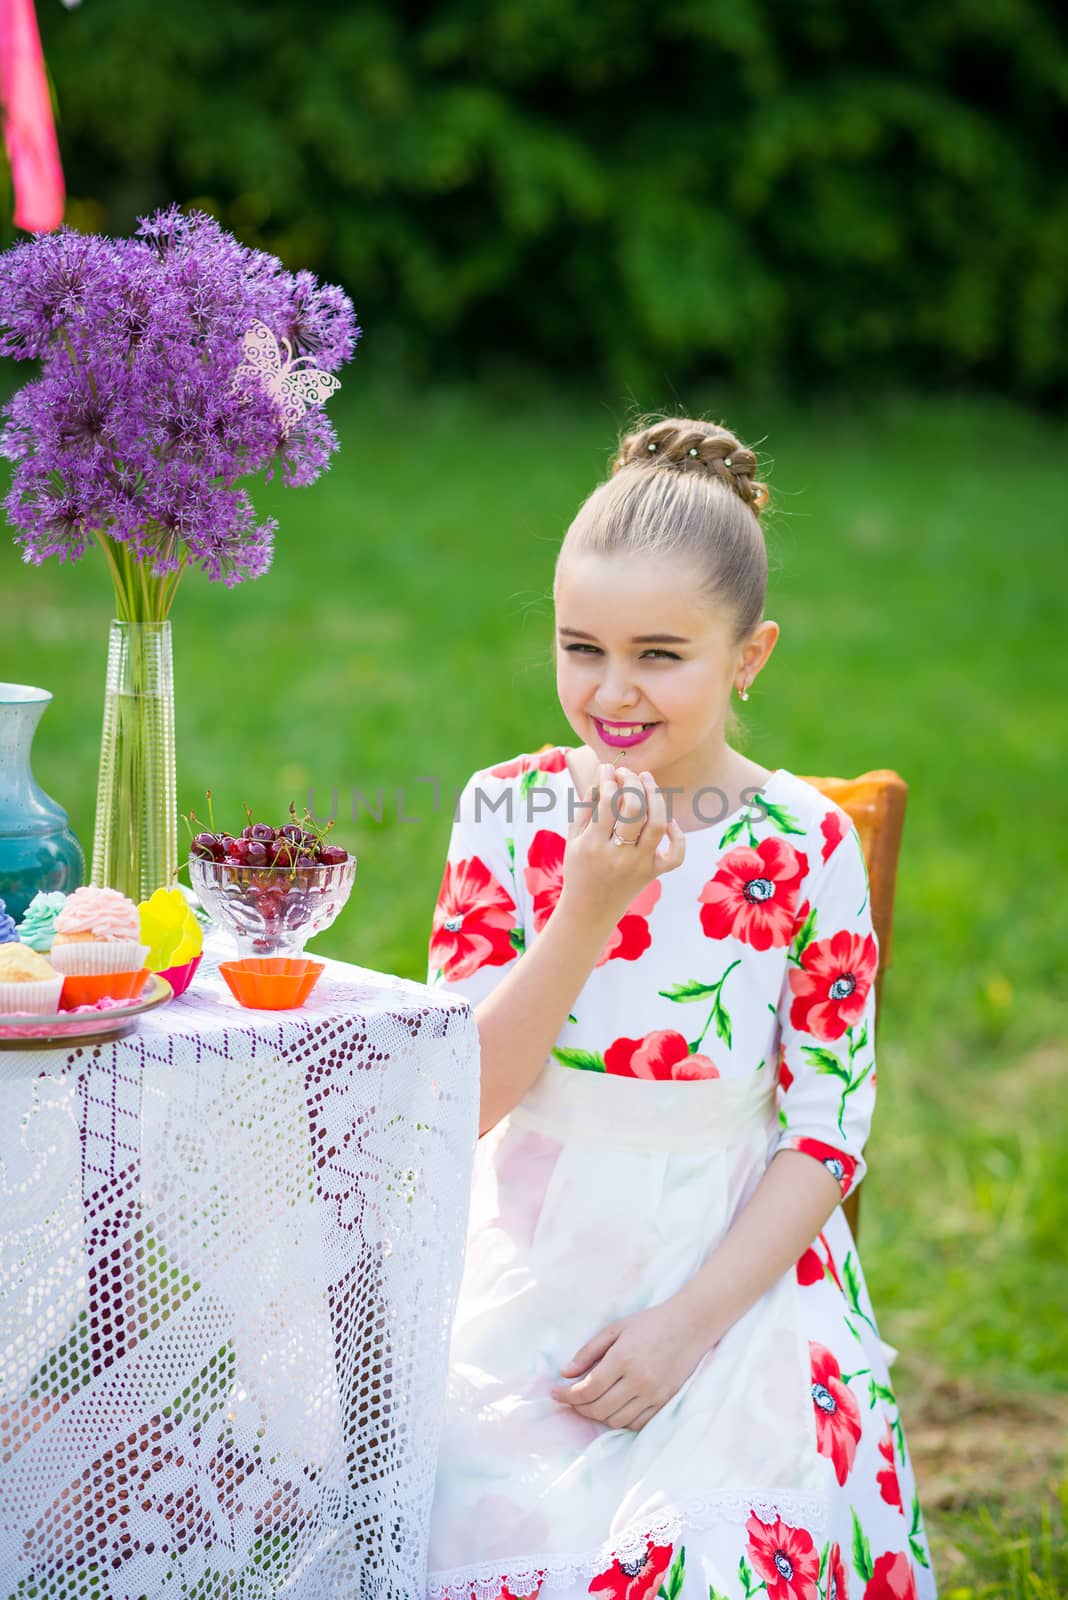
POLYGON ((767 1493, 732 1490, 713 1501, 689 1501, 668 1506, 641 1528, 628 1528, 619 1538, 603 1546, 596 1555, 523 1555, 492 1565, 481 1562, 470 1566, 454 1566, 430 1574, 428 1600, 500 1600, 502 1592, 524 1600, 528 1595, 568 1589, 574 1582, 590 1582, 608 1571, 614 1562, 630 1566, 641 1562, 654 1544, 676 1546, 686 1528, 702 1531, 716 1522, 747 1522, 755 1514, 764 1523, 777 1518, 791 1528, 806 1528, 819 1534, 827 1530, 827 1502, 820 1494, 783 1493, 767 1498, 767 1493), (539 1589, 540 1586, 540 1589, 539 1589))

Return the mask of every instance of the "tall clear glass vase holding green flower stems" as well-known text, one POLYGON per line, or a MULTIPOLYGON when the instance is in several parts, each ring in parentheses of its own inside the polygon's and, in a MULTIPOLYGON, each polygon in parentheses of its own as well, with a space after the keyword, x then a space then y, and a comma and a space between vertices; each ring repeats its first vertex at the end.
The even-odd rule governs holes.
POLYGON ((91 880, 142 901, 176 874, 171 624, 114 621, 91 880))

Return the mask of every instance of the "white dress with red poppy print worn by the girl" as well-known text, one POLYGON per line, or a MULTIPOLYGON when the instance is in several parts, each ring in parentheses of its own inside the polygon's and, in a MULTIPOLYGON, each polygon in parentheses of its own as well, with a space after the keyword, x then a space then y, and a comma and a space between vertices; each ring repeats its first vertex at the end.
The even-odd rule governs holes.
MULTIPOLYGON (((566 754, 464 789, 430 939, 443 990, 481 1000, 552 917, 566 754)), ((855 827, 783 768, 620 918, 480 1141, 432 1600, 934 1600, 894 1352, 841 1208, 641 1432, 550 1397, 608 1322, 692 1277, 777 1150, 843 1197, 860 1182, 876 965, 855 827)))

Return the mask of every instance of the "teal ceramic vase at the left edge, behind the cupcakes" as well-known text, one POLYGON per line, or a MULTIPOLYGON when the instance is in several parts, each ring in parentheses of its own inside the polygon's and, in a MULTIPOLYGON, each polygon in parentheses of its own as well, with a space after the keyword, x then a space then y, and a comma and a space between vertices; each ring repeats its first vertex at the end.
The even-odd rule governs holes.
POLYGON ((30 771, 30 746, 51 694, 0 683, 0 899, 18 922, 38 890, 70 893, 85 882, 82 845, 67 813, 30 771))

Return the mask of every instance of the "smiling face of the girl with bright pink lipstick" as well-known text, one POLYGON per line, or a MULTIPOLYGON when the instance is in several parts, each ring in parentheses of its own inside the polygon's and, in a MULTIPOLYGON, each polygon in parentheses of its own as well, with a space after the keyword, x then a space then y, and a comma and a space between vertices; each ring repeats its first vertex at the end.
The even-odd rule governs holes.
POLYGON ((759 645, 734 643, 731 619, 697 597, 684 562, 564 557, 556 581, 560 704, 598 760, 699 786, 723 760, 734 682, 759 670, 777 632, 763 622, 759 645))

